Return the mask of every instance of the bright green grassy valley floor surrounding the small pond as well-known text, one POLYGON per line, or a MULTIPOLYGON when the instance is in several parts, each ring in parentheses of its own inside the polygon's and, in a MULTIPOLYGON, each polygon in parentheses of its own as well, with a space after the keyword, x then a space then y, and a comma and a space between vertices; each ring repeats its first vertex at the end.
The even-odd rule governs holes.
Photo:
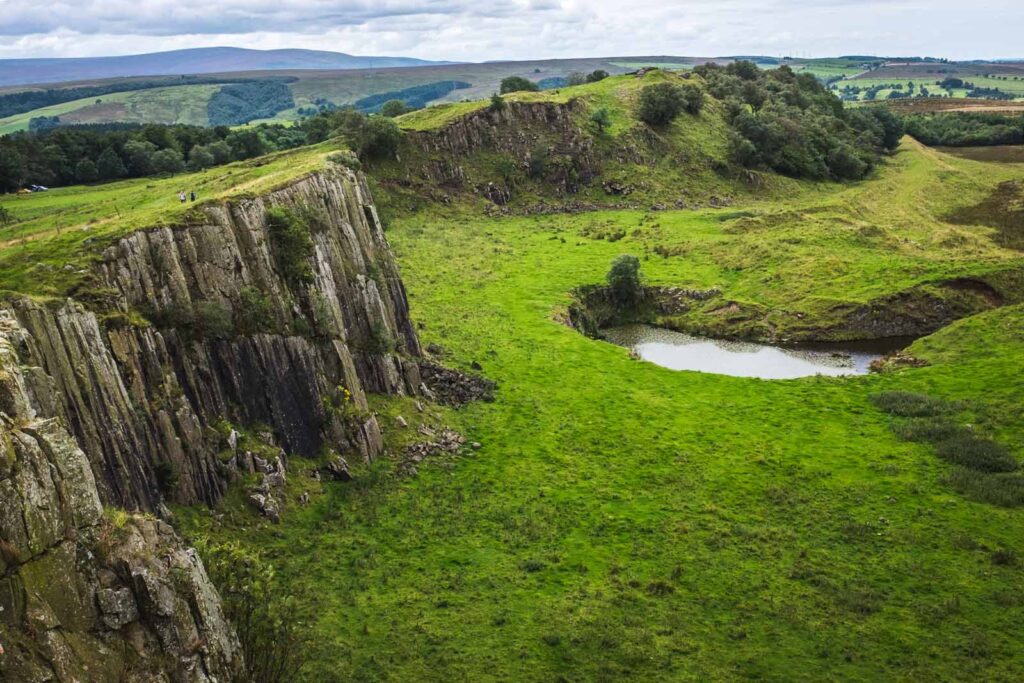
MULTIPOLYGON (((806 210, 777 232, 711 211, 398 219, 424 342, 500 384, 495 403, 436 418, 483 447, 414 479, 386 463, 350 485, 292 476, 281 526, 239 498, 225 525, 195 510, 183 525, 269 552, 311 623, 310 681, 1019 680, 1024 578, 991 552, 1024 551, 1021 512, 952 493, 867 396, 969 401, 963 419, 1020 455, 1024 309, 921 340, 929 368, 781 382, 636 362, 552 318, 651 233, 692 248, 645 261, 652 281, 774 303, 1019 259, 981 228, 962 252, 936 219, 1009 172, 908 144, 879 179, 737 207, 806 210), (581 237, 594 222, 643 227, 581 237)), ((423 419, 408 401, 378 409, 423 419)))

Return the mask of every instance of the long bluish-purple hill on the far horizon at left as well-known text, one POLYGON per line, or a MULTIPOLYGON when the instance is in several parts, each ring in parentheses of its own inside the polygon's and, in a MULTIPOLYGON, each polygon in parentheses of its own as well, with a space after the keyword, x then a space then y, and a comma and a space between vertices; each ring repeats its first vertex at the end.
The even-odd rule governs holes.
POLYGON ((113 57, 0 59, 0 86, 285 69, 381 69, 451 63, 410 57, 368 57, 321 50, 201 47, 113 57))

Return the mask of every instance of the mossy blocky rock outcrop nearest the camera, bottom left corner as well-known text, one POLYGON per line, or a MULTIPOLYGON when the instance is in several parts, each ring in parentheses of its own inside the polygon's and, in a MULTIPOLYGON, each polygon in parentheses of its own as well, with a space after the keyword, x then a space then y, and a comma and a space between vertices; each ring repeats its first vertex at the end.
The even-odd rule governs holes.
POLYGON ((202 562, 164 522, 104 516, 85 454, 33 408, 28 334, 0 312, 0 680, 230 680, 240 646, 202 562))

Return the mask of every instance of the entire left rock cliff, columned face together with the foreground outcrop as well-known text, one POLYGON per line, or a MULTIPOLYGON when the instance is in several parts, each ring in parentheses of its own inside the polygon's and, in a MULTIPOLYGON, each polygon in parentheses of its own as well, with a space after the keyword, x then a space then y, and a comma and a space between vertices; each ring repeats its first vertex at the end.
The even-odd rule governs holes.
POLYGON ((0 305, 0 680, 231 680, 198 555, 122 509, 216 502, 245 467, 225 424, 377 455, 367 392, 425 390, 404 289, 336 165, 131 232, 91 274, 88 305, 0 305))

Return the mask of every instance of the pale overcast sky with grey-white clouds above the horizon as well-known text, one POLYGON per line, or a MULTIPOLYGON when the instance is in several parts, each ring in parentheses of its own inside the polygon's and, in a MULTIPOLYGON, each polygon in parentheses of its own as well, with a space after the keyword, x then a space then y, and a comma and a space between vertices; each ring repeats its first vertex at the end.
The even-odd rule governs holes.
POLYGON ((478 61, 1024 56, 1024 0, 0 0, 0 57, 304 47, 478 61))

